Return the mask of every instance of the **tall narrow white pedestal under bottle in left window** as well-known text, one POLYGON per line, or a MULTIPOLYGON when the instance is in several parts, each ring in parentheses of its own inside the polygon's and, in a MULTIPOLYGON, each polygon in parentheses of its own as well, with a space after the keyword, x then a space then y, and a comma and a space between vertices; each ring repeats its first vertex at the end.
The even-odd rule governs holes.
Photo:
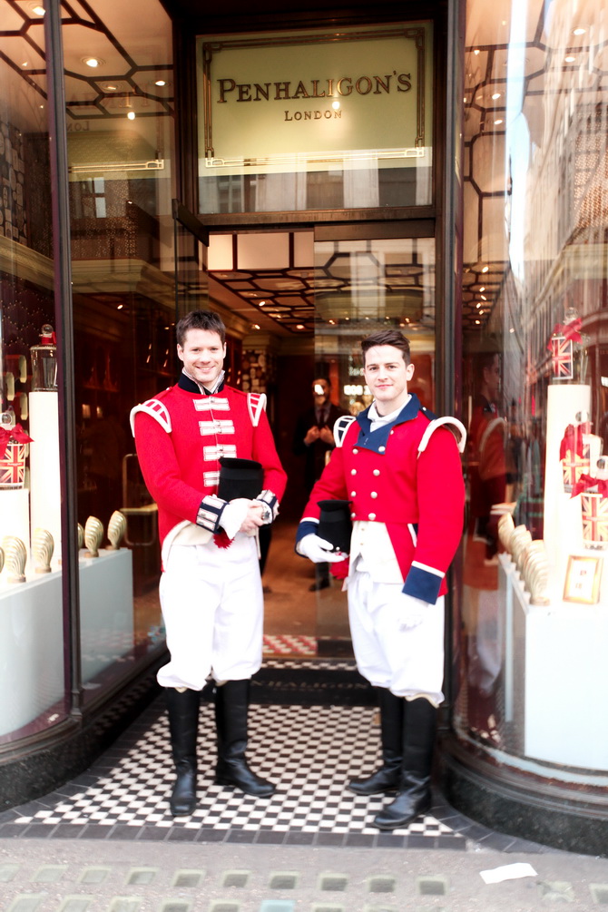
MULTIPOLYGON (((31 528, 53 536, 53 566, 61 557, 61 490, 59 469, 59 407, 57 393, 29 394, 31 528)), ((29 549, 29 541, 26 542, 29 549)))

